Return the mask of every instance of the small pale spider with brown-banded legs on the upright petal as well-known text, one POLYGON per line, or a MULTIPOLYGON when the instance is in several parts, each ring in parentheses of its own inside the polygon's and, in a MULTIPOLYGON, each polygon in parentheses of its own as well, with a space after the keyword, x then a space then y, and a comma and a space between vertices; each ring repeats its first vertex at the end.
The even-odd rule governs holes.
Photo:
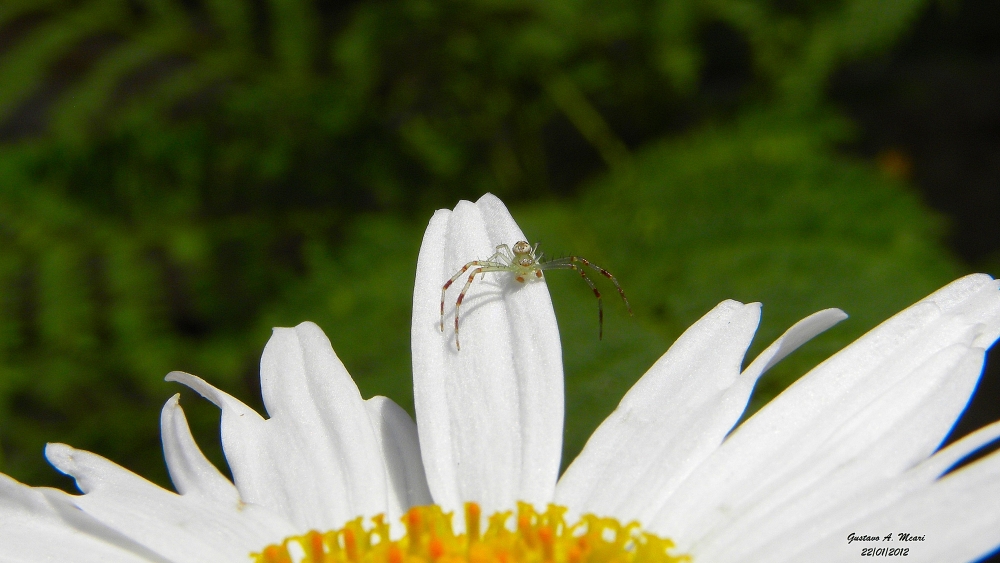
POLYGON ((594 296, 597 297, 597 338, 604 338, 604 304, 601 301, 601 292, 597 290, 597 286, 594 282, 587 277, 587 273, 583 270, 583 266, 588 266, 597 270, 602 276, 611 280, 611 283, 615 284, 615 288, 618 290, 618 294, 622 296, 622 301, 625 302, 625 308, 628 309, 628 314, 632 314, 632 307, 628 304, 628 298, 625 297, 625 291, 620 285, 618 285, 618 280, 615 279, 611 272, 597 266, 596 264, 591 264, 586 258, 580 258, 579 256, 567 256, 565 258, 556 258, 554 260, 548 260, 542 262, 542 255, 536 255, 535 252, 538 250, 538 243, 535 246, 531 246, 527 241, 518 241, 514 243, 513 248, 507 246, 506 244, 497 245, 497 251, 493 253, 486 260, 473 260, 468 264, 462 266, 462 269, 455 273, 450 280, 444 283, 441 287, 441 332, 444 332, 444 299, 445 292, 451 287, 451 284, 455 283, 462 274, 468 270, 472 270, 469 274, 469 279, 465 282, 465 287, 462 288, 462 293, 458 294, 458 300, 455 301, 455 348, 458 350, 462 349, 461 344, 458 342, 458 310, 462 306, 462 300, 465 299, 466 292, 469 291, 469 286, 472 285, 472 280, 476 279, 476 275, 482 275, 485 277, 486 272, 512 272, 514 274, 514 279, 519 283, 524 283, 526 280, 530 279, 531 276, 536 278, 542 277, 542 270, 576 270, 580 273, 580 277, 583 281, 587 282, 590 289, 594 291, 594 296), (582 264, 582 266, 580 265, 582 264))

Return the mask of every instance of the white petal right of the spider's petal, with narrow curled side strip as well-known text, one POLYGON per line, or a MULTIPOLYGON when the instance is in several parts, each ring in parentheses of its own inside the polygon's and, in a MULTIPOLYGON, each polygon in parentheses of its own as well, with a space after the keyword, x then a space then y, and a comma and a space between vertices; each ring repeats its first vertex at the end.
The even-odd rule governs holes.
POLYGON ((739 420, 757 378, 846 318, 820 311, 788 329, 740 374, 759 304, 725 301, 688 329, 594 432, 556 489, 575 512, 648 522, 739 420))

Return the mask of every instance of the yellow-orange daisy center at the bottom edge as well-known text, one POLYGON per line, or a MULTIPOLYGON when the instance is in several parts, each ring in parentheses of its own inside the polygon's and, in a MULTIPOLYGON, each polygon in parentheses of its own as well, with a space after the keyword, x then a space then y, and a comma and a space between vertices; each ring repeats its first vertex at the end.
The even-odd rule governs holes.
POLYGON ((452 514, 441 507, 416 506, 402 518, 406 535, 389 538, 383 515, 365 529, 361 518, 340 530, 310 531, 269 545, 251 555, 254 563, 675 563, 687 555, 670 555, 674 542, 639 530, 638 522, 622 525, 614 518, 584 515, 568 525, 566 508, 549 505, 536 512, 518 503, 517 529, 507 527, 511 512, 498 512, 482 529, 476 503, 465 505, 464 534, 455 534, 452 514))

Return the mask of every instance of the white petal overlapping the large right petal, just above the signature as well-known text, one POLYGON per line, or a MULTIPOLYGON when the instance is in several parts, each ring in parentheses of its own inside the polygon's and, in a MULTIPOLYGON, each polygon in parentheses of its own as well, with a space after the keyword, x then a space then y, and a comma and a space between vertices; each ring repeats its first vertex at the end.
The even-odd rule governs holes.
POLYGON ((936 354, 801 466, 775 469, 782 479, 752 500, 733 503, 725 523, 699 540, 695 552, 710 561, 775 560, 791 547, 782 545, 789 530, 808 527, 815 538, 815 530, 836 530, 926 485, 904 472, 928 455, 923 437, 947 432, 954 422, 955 403, 964 405, 982 359, 982 349, 961 345, 936 354))

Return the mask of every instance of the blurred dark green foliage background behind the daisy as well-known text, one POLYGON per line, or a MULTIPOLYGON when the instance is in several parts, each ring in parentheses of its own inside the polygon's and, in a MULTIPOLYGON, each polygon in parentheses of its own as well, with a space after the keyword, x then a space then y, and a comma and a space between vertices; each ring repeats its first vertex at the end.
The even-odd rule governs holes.
MULTIPOLYGON (((270 329, 304 320, 412 413, 423 229, 487 191, 635 310, 607 287, 598 343, 591 292, 547 276, 564 465, 722 299, 764 303, 751 358, 846 310, 758 408, 1000 271, 998 21, 987 0, 3 0, 0 471, 71 486, 59 441, 167 485, 178 391, 225 470, 217 410, 163 376, 261 409, 270 329)), ((957 433, 996 418, 996 380, 957 433)))

